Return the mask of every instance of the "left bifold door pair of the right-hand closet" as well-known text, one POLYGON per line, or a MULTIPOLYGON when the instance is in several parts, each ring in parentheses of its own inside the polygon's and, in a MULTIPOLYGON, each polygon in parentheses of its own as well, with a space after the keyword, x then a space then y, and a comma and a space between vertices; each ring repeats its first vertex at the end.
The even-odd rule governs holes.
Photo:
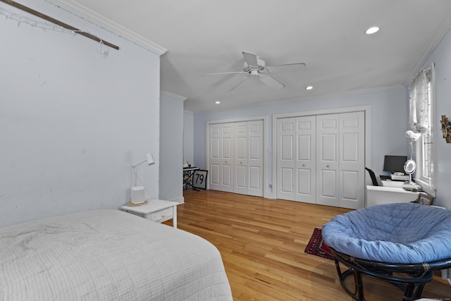
POLYGON ((277 121, 277 198, 316 202, 315 116, 277 121))

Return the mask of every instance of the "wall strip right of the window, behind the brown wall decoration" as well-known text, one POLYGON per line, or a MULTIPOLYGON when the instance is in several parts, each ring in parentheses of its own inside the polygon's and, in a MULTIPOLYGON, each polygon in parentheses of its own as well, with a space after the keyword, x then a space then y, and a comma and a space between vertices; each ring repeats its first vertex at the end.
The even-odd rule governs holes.
POLYGON ((448 30, 424 67, 435 63, 435 152, 437 195, 434 204, 451 209, 451 143, 446 143, 440 130, 442 115, 451 118, 451 31, 448 30))

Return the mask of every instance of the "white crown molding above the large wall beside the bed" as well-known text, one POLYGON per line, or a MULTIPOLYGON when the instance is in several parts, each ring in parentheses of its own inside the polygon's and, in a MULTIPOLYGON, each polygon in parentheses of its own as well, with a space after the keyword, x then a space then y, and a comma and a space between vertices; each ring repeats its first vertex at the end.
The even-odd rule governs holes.
POLYGON ((118 23, 115 23, 112 20, 109 20, 108 18, 101 16, 99 13, 96 13, 95 11, 92 11, 86 6, 78 4, 73 0, 46 0, 46 1, 66 9, 70 13, 75 13, 75 15, 80 16, 81 18, 84 18, 96 25, 99 25, 105 28, 106 30, 115 33, 116 35, 123 37, 124 39, 128 39, 128 41, 140 45, 141 47, 144 47, 145 49, 154 52, 154 54, 158 54, 159 56, 161 56, 162 54, 165 54, 168 51, 168 49, 163 48, 158 44, 155 44, 149 39, 146 39, 145 37, 142 37, 141 35, 138 35, 137 33, 128 30, 122 25, 119 25, 118 23))

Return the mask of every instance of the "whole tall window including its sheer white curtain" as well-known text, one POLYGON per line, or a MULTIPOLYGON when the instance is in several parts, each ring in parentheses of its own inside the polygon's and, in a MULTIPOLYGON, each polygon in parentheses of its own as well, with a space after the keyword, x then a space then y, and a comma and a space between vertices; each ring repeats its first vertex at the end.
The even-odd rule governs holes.
POLYGON ((410 123, 412 130, 421 133, 416 140, 415 182, 424 191, 435 197, 434 159, 435 146, 433 137, 433 66, 425 68, 412 83, 410 88, 410 123))

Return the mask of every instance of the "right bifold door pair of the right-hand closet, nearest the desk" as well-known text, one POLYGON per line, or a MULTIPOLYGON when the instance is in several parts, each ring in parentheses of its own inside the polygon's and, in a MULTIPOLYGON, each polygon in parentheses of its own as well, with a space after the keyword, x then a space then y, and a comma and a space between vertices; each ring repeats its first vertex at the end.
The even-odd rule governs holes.
POLYGON ((364 112, 316 116, 316 203, 364 207, 364 112))

